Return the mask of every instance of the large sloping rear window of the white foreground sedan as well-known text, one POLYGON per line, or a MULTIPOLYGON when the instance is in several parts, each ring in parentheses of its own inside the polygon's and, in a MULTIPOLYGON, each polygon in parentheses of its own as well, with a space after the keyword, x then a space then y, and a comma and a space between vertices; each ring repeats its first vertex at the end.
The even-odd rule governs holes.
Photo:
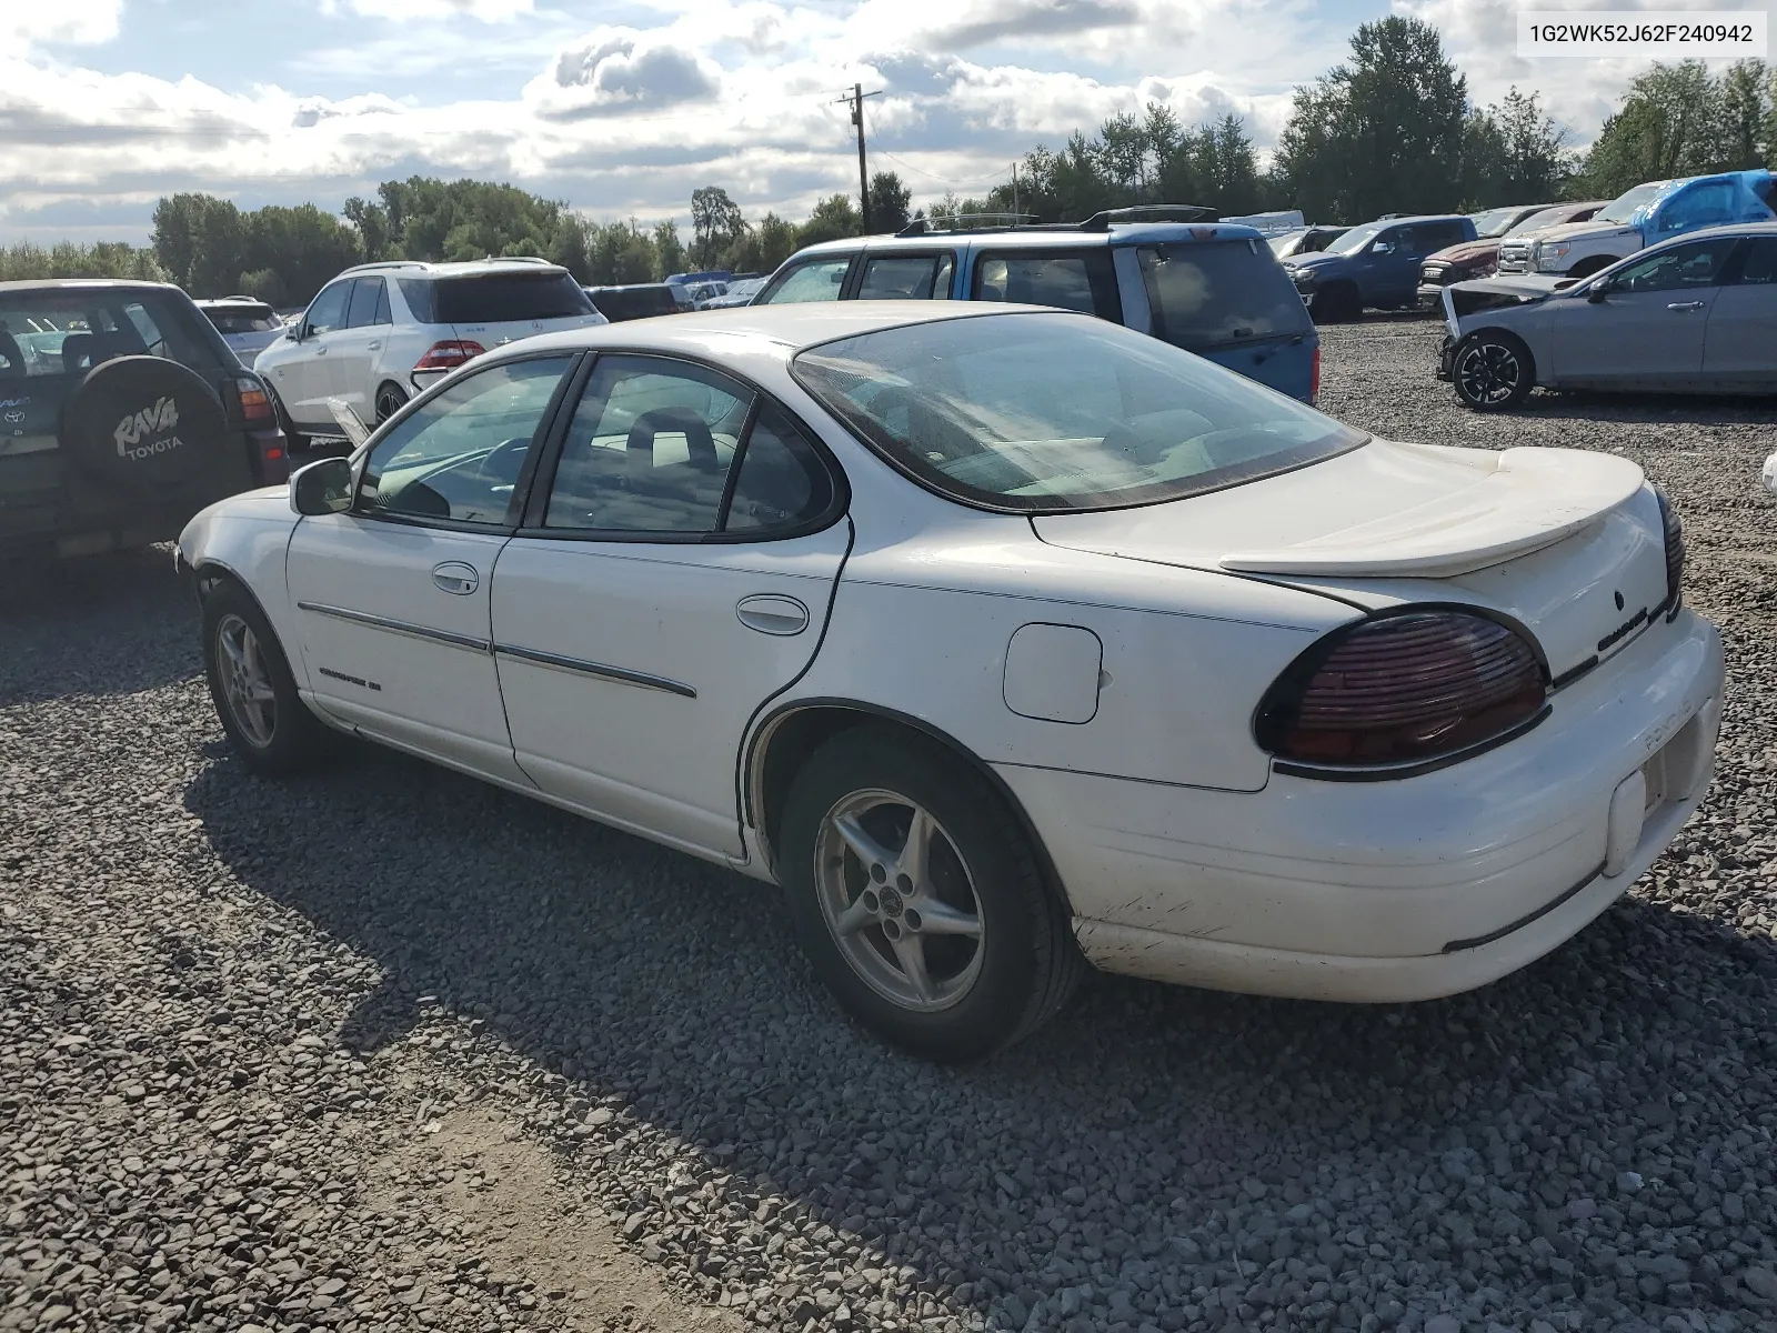
POLYGON ((1077 315, 881 329, 809 348, 791 370, 892 464, 997 510, 1178 499, 1368 439, 1157 338, 1077 315))

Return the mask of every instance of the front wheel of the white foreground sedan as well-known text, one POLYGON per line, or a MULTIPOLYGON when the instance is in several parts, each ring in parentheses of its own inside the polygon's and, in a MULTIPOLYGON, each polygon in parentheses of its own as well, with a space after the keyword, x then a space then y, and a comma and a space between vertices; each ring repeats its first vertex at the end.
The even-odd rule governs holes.
POLYGON ((204 597, 204 674, 222 730, 249 768, 293 773, 315 762, 332 739, 297 693, 265 613, 229 579, 204 597))

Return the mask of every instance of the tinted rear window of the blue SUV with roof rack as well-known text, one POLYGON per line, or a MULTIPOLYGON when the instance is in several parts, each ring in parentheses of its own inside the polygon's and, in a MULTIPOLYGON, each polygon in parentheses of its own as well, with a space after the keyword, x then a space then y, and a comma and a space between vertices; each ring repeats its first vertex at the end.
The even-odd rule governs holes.
POLYGON ((1136 252, 1153 336, 1203 352, 1313 329, 1278 258, 1258 240, 1143 245, 1136 252))

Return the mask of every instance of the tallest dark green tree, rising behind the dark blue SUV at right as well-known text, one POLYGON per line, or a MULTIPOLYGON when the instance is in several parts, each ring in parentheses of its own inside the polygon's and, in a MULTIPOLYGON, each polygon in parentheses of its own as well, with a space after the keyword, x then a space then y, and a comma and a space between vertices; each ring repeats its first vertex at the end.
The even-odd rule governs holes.
POLYGON ((1351 60, 1295 91, 1276 169, 1317 219, 1441 213, 1462 203, 1468 80, 1429 23, 1390 16, 1351 39, 1351 60))

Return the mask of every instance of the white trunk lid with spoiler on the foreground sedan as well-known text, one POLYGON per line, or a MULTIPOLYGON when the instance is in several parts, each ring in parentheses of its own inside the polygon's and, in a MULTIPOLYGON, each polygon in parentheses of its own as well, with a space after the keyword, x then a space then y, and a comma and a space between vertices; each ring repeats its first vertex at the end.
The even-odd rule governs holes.
POLYGON ((1043 514, 1054 546, 1223 571, 1367 610, 1457 601, 1512 617, 1560 677, 1665 603, 1660 507, 1635 464, 1578 450, 1372 441, 1294 473, 1102 514, 1043 514))

